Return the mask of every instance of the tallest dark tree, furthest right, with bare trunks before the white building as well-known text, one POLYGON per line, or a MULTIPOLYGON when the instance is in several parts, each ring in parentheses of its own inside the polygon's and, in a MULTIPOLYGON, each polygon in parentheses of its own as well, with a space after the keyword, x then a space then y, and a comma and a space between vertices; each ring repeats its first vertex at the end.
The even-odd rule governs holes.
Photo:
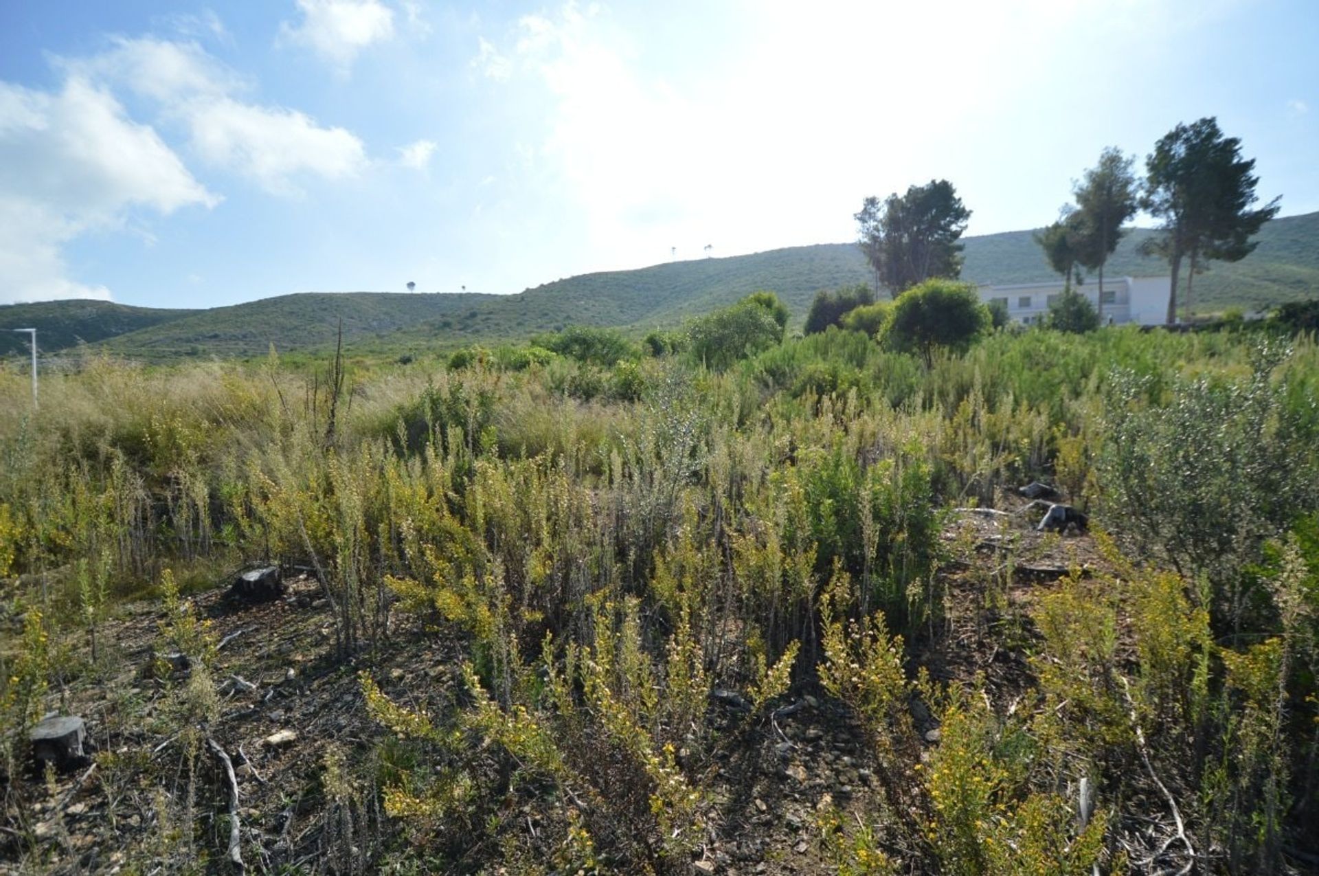
POLYGON ((1212 116, 1178 124, 1145 160, 1142 206, 1163 220, 1163 237, 1153 249, 1169 260, 1171 288, 1167 322, 1177 319, 1177 282, 1182 259, 1190 260, 1186 311, 1191 311, 1195 272, 1211 260, 1240 261, 1254 251, 1250 240, 1278 212, 1278 199, 1252 210, 1258 201, 1253 158, 1241 157, 1241 140, 1224 137, 1212 116))

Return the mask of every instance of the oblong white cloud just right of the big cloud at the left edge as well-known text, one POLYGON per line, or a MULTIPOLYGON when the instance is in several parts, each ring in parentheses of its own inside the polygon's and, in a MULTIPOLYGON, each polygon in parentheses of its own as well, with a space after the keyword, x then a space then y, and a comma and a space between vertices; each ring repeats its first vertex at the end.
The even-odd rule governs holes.
POLYGON ((273 194, 294 194, 297 174, 352 177, 365 152, 344 128, 322 128, 295 110, 266 108, 230 98, 198 100, 185 112, 191 145, 207 162, 253 178, 273 194))

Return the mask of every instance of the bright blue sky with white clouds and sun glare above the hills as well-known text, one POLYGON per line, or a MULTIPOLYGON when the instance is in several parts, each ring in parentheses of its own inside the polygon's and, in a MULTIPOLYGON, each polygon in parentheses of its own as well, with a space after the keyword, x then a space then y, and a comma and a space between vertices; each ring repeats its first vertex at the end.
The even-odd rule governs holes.
POLYGON ((0 0, 0 303, 516 293, 855 240, 933 178, 1034 228, 1210 115, 1310 212, 1316 38, 1314 0, 0 0))

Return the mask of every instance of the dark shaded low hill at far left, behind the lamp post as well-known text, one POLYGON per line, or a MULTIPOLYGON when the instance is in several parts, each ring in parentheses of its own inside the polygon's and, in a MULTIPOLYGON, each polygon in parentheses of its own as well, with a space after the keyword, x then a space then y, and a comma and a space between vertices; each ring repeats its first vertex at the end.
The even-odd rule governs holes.
POLYGON ((12 328, 36 328, 37 347, 54 352, 78 343, 173 322, 198 313, 157 307, 131 307, 109 301, 42 301, 0 306, 0 356, 28 354, 28 335, 12 328))

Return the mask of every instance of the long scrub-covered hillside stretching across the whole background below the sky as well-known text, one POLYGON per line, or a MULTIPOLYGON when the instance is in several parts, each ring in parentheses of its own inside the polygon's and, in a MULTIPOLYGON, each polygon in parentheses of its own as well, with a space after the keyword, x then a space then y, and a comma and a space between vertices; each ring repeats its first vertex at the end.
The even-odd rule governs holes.
MULTIPOLYGON (((1154 232, 1132 231, 1109 261, 1111 276, 1163 274, 1158 259, 1138 255, 1154 232)), ((1260 247, 1237 264, 1213 264, 1195 281, 1200 311, 1239 306, 1266 310, 1319 290, 1319 212, 1277 219, 1260 247)), ((323 348, 339 321, 356 352, 421 352, 467 343, 521 340, 567 323, 637 331, 682 321, 772 289, 801 325, 820 289, 867 282, 869 269, 853 244, 818 244, 748 256, 699 259, 580 274, 516 296, 302 293, 211 310, 149 310, 106 302, 47 302, 0 307, 0 328, 36 326, 41 347, 78 340, 149 360, 191 356, 259 356, 323 348)), ((1051 276, 1030 231, 966 239, 963 277, 972 282, 1029 282, 1051 276)), ((0 332, 0 355, 25 350, 0 332)))

